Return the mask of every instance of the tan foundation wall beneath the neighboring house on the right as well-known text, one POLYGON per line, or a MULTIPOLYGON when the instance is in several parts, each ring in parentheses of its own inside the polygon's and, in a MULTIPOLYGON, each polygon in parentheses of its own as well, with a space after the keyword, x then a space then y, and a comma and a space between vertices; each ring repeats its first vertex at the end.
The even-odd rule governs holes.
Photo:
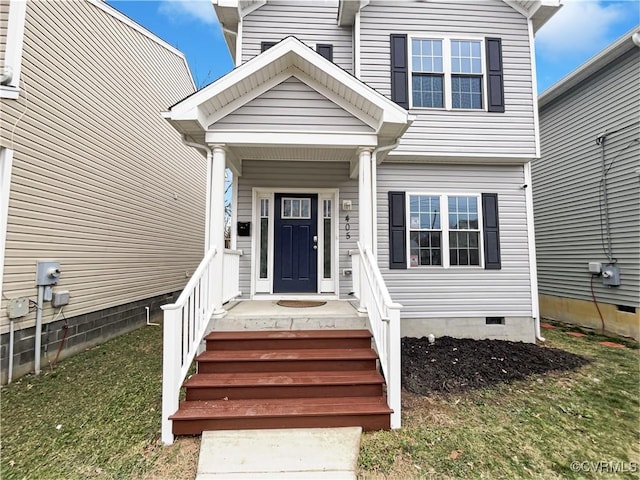
MULTIPOLYGON (((598 302, 605 330, 624 337, 640 340, 640 308, 626 312, 617 305, 598 302)), ((593 302, 575 298, 540 295, 540 314, 544 318, 573 323, 600 330, 602 321, 593 302)))

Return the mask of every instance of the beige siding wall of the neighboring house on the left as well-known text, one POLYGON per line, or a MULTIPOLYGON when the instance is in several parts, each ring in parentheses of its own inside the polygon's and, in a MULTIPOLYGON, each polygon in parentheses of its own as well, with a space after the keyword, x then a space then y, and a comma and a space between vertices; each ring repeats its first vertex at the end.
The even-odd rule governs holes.
POLYGON ((1 104, 15 150, 3 294, 35 298, 38 259, 60 261, 68 318, 182 289, 206 176, 160 116, 193 91, 183 58, 89 3, 28 2, 22 82, 1 104))

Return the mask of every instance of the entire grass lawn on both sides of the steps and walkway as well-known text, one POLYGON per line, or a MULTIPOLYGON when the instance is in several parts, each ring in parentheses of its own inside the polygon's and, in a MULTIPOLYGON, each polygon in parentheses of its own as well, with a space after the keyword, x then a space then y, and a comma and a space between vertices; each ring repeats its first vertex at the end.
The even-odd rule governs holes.
MULTIPOLYGON (((544 333, 592 363, 466 395, 405 393, 405 428, 363 436, 360 476, 605 478, 571 462, 639 461, 638 350, 544 333)), ((197 442, 159 443, 161 356, 161 329, 143 327, 3 387, 0 477, 193 478, 197 442)))

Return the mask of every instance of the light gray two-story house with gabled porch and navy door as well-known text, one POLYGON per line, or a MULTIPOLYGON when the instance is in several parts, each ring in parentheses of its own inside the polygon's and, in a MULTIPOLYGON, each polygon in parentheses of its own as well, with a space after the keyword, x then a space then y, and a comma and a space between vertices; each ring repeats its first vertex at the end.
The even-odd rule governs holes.
POLYGON ((534 342, 533 39, 559 1, 214 5, 236 68, 165 118, 208 156, 209 248, 233 172, 231 291, 386 305, 392 344, 534 342))

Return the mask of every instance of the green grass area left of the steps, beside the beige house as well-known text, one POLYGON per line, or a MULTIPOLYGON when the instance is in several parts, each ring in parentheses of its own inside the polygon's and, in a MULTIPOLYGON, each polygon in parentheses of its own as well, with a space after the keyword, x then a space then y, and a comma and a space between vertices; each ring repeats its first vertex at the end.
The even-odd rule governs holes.
POLYGON ((131 478, 159 454, 162 336, 143 327, 2 388, 3 480, 131 478))

